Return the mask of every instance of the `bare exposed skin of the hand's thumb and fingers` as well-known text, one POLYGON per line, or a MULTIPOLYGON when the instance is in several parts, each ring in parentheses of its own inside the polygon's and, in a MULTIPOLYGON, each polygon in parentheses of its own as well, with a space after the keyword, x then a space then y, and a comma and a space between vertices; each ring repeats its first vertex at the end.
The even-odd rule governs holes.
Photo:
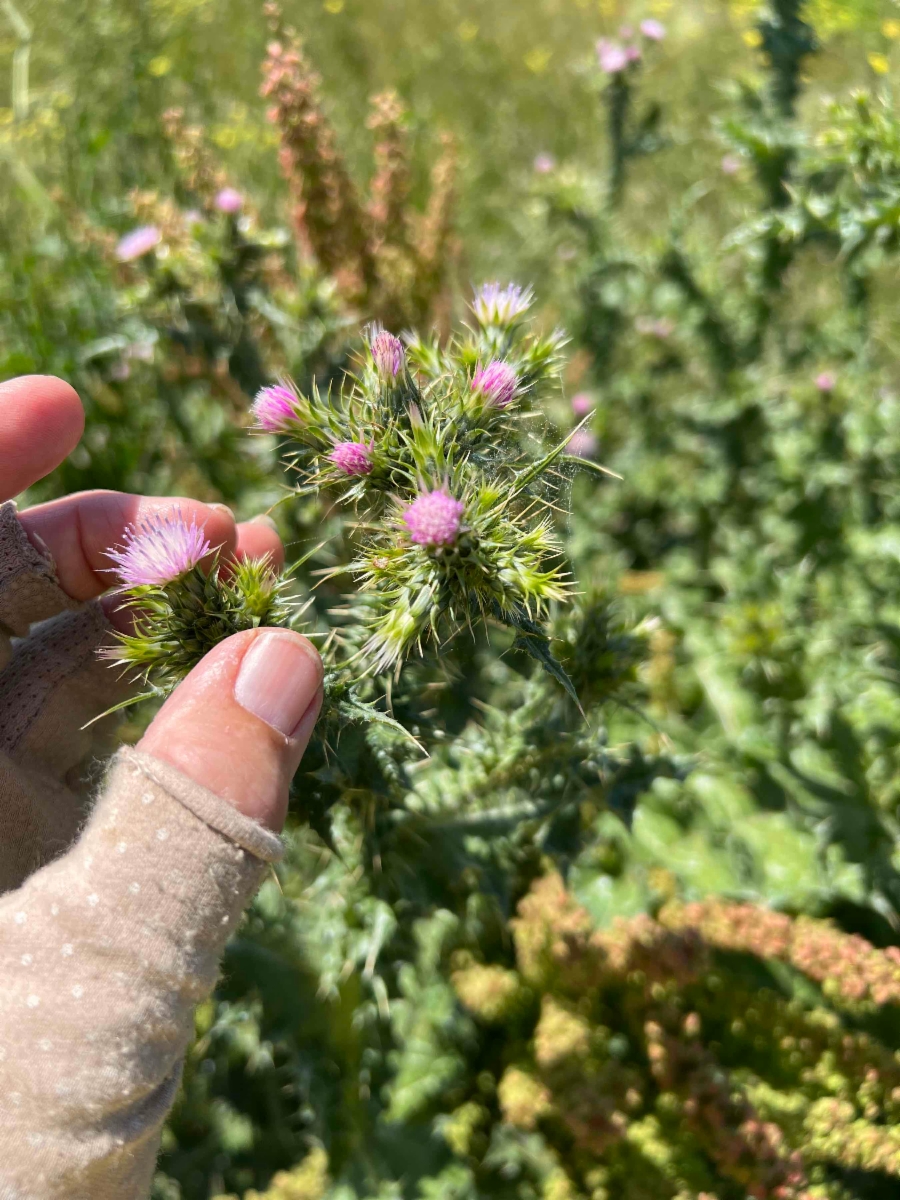
MULTIPOLYGON (((53 470, 83 431, 82 403, 61 379, 28 376, 0 384, 0 502, 53 470)), ((19 520, 28 535, 49 550, 62 589, 74 600, 92 600, 110 588, 106 551, 121 542, 126 527, 174 509, 203 526, 210 544, 227 557, 269 554, 277 564, 283 560, 269 523, 235 523, 224 505, 186 498, 79 492, 26 509, 19 520)), ((104 600, 104 607, 113 623, 122 619, 114 598, 104 600)), ((287 630, 238 634, 208 654, 173 692, 139 749, 278 832, 288 785, 320 706, 322 662, 307 638, 287 630), (263 643, 272 637, 277 654, 263 667, 263 643)))

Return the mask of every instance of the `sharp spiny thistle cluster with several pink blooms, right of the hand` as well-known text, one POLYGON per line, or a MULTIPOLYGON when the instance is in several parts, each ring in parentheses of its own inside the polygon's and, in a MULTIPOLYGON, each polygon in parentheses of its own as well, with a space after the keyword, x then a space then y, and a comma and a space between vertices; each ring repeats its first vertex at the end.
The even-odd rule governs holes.
POLYGON ((358 515, 359 594, 340 640, 362 674, 488 620, 562 680, 541 626, 570 594, 553 526, 566 443, 544 443, 540 400, 560 334, 529 332, 529 292, 481 288, 467 330, 442 346, 372 328, 340 396, 263 389, 257 426, 289 438, 298 492, 335 488, 358 515))

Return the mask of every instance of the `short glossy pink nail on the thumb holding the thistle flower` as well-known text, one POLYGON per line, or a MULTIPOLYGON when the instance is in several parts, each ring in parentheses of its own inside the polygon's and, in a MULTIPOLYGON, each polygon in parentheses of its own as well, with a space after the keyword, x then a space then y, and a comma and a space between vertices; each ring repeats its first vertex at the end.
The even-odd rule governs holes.
POLYGON ((295 634, 262 634, 238 672, 234 698, 248 713, 293 737, 316 698, 322 667, 316 652, 295 634))

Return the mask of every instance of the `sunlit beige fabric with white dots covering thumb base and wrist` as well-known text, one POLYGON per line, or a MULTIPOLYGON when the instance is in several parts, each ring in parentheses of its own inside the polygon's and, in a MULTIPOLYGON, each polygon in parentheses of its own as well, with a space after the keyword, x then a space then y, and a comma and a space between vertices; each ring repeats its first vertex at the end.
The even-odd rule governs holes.
POLYGON ((76 846, 0 900, 2 1200, 145 1200, 193 1007, 280 852, 125 750, 76 846))

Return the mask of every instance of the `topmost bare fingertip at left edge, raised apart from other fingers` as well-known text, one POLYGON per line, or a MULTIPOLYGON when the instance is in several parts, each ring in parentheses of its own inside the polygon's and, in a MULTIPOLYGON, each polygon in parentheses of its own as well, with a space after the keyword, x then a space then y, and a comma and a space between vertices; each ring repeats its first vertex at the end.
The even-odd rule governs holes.
POLYGON ((59 467, 83 431, 78 392, 62 379, 22 376, 0 383, 0 502, 59 467))

